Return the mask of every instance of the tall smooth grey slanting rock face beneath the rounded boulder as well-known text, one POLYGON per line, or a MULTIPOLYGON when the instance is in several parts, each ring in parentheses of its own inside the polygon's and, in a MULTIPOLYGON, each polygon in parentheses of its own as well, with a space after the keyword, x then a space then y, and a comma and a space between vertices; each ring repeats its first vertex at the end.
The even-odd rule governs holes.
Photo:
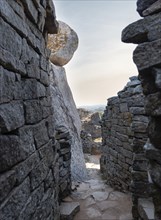
POLYGON ((85 161, 80 140, 81 121, 73 101, 73 96, 66 80, 63 67, 50 67, 51 94, 53 105, 53 123, 69 131, 71 139, 71 175, 74 180, 87 178, 85 161))

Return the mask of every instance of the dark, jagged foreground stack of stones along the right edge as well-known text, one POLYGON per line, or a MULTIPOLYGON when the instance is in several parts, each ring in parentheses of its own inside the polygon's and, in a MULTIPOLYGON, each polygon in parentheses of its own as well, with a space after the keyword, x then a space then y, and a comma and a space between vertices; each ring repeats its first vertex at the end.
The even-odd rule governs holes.
MULTIPOLYGON (((138 0, 137 11, 144 18, 123 30, 122 40, 139 44, 133 60, 145 94, 145 111, 150 116, 149 140, 145 145, 155 220, 161 219, 161 1, 138 0)), ((137 219, 138 216, 134 216, 137 219)))

